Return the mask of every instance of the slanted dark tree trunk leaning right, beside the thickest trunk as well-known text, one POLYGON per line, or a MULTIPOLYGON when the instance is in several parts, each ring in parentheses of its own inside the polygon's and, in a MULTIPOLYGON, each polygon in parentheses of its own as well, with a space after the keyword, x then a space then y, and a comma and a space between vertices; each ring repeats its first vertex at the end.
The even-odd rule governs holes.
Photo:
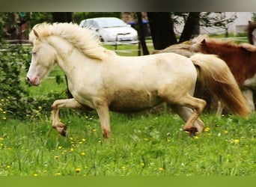
POLYGON ((199 19, 200 12, 189 13, 188 19, 183 28, 183 32, 180 35, 179 43, 183 43, 186 40, 190 40, 193 34, 199 34, 199 19))

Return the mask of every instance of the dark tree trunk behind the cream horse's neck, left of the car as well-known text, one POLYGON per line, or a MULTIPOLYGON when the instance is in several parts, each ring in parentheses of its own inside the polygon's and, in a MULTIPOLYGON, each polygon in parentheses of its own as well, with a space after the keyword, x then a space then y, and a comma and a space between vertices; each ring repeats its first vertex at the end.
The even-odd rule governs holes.
MULTIPOLYGON (((53 12, 52 13, 52 19, 53 22, 72 22, 72 13, 71 12, 53 12)), ((67 85, 67 97, 73 98, 73 95, 70 93, 70 90, 68 88, 67 84, 67 76, 65 76, 66 79, 66 85, 67 85)))

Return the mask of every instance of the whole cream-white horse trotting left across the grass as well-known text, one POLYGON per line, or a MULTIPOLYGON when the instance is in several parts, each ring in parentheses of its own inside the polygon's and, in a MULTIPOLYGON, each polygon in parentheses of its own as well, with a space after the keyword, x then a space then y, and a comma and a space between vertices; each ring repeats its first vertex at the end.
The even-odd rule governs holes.
POLYGON ((135 112, 167 102, 183 120, 183 129, 203 132, 198 118, 206 102, 192 96, 198 80, 210 86, 234 114, 244 117, 249 109, 224 61, 215 55, 186 58, 174 53, 122 57, 100 46, 86 28, 72 23, 35 25, 29 39, 33 42, 27 81, 40 85, 55 64, 67 76, 73 99, 52 104, 52 126, 66 135, 61 123, 61 107, 94 108, 100 118, 103 137, 110 135, 110 111, 135 112))

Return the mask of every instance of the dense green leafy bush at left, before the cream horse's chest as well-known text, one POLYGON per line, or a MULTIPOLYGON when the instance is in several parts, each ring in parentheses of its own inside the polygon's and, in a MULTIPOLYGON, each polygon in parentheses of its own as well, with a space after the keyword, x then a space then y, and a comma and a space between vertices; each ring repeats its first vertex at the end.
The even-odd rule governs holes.
MULTIPOLYGON (((31 46, 5 45, 1 47, 0 120, 36 118, 39 117, 38 108, 43 110, 44 114, 49 115, 50 103, 61 97, 61 93, 46 93, 40 98, 29 96, 25 87, 25 73, 31 61, 30 54, 31 46)), ((58 81, 61 82, 59 78, 58 81)))

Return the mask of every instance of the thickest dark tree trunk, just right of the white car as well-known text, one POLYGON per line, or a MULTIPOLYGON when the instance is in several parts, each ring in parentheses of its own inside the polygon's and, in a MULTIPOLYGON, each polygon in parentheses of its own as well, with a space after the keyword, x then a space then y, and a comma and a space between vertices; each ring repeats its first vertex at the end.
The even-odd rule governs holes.
POLYGON ((160 50, 177 43, 169 12, 147 12, 154 49, 160 50))

